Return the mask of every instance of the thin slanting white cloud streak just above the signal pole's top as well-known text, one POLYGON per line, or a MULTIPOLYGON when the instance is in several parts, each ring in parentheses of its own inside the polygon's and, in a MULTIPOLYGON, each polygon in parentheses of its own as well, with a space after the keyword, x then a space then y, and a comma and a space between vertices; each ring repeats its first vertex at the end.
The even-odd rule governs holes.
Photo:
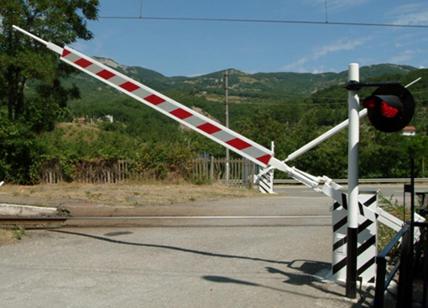
POLYGON ((360 39, 340 39, 328 45, 317 48, 309 55, 303 56, 293 63, 287 64, 283 67, 284 70, 295 70, 297 72, 307 71, 305 64, 316 61, 332 53, 341 51, 350 51, 366 43, 370 38, 360 39))

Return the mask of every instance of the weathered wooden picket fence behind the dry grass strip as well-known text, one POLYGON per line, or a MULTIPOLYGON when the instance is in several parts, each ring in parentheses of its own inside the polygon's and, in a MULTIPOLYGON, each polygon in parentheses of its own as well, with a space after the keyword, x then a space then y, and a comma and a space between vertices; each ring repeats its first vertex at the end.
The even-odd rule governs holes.
MULTIPOLYGON (((198 158, 190 161, 189 165, 189 174, 186 177, 195 183, 226 182, 226 159, 224 158, 198 158)), ((137 170, 135 166, 134 162, 127 160, 79 162, 74 166, 71 178, 66 179, 59 163, 50 161, 43 166, 41 179, 43 183, 47 184, 55 184, 64 180, 105 184, 153 178, 150 172, 137 170)), ((251 186, 257 166, 246 159, 230 159, 229 170, 229 183, 227 184, 251 186)))

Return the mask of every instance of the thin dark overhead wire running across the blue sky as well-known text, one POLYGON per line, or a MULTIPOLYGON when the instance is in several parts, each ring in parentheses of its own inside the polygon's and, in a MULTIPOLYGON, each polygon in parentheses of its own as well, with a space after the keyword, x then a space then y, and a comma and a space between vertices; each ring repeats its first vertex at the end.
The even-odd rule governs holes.
POLYGON ((189 21, 189 22, 232 22, 232 23, 270 23, 270 24, 303 24, 329 26, 360 26, 360 27, 389 27, 389 28, 419 28, 428 29, 428 24, 399 24, 399 23, 372 23, 347 21, 320 21, 294 19, 258 19, 258 18, 223 18, 223 17, 167 17, 167 16, 100 16, 99 19, 116 20, 158 20, 158 21, 189 21))

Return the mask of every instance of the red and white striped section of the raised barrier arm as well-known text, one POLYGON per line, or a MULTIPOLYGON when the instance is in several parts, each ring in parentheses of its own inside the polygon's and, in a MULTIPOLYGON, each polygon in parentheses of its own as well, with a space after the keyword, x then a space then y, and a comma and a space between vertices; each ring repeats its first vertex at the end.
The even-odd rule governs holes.
POLYGON ((269 149, 68 46, 63 48, 61 60, 263 168, 267 167, 273 158, 269 149))

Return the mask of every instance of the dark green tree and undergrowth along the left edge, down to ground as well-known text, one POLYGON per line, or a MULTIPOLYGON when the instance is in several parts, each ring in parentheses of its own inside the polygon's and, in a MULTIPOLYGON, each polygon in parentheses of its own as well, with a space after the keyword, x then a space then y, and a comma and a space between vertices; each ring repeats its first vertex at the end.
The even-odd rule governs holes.
POLYGON ((46 153, 37 133, 70 118, 67 100, 78 97, 75 86, 60 82, 73 69, 12 25, 61 44, 87 40, 92 33, 86 21, 96 19, 97 6, 98 0, 0 3, 0 178, 25 184, 39 180, 46 153))

